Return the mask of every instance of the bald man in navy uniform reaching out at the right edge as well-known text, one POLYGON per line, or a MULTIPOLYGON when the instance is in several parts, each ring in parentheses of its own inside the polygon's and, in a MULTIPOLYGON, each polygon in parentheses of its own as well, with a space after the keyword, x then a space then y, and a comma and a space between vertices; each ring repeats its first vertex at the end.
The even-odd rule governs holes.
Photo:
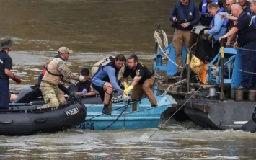
MULTIPOLYGON (((231 11, 234 17, 237 17, 237 22, 234 27, 229 30, 225 35, 219 38, 219 42, 222 39, 234 35, 237 33, 238 46, 242 48, 241 53, 241 69, 242 69, 242 81, 241 84, 236 87, 237 89, 249 89, 256 86, 256 29, 252 23, 252 19, 244 12, 242 6, 239 4, 233 4, 231 11)), ((236 45, 234 45, 236 47, 236 45)))

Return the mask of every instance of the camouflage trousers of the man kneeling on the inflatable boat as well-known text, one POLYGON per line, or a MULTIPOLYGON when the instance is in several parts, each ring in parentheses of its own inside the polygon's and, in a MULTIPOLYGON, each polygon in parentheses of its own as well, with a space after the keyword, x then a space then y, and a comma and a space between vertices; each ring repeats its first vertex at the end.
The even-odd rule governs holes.
POLYGON ((51 84, 42 81, 40 84, 40 89, 43 95, 43 99, 45 100, 45 105, 40 108, 49 108, 49 107, 59 107, 60 105, 64 105, 66 103, 66 99, 63 96, 61 89, 58 86, 53 86, 51 84))

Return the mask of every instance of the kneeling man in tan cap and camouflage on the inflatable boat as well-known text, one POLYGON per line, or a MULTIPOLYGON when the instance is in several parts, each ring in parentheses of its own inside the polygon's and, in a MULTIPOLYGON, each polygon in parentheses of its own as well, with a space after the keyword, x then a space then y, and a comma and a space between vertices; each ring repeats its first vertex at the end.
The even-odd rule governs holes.
MULTIPOLYGON (((58 88, 58 83, 63 80, 72 82, 71 79, 84 81, 84 76, 78 76, 69 71, 69 66, 66 65, 66 60, 69 59, 69 53, 72 53, 69 48, 61 47, 58 49, 58 55, 45 66, 46 72, 40 84, 40 89, 45 100, 45 105, 37 109, 59 107, 66 103, 61 89, 58 88)), ((76 81, 74 81, 76 82, 76 81)))

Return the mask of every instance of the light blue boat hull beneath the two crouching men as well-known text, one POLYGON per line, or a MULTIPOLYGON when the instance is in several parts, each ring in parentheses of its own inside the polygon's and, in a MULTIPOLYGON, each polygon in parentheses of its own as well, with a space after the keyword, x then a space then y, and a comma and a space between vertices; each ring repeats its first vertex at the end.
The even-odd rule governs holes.
POLYGON ((120 128, 157 128, 162 112, 176 104, 170 95, 157 96, 158 107, 151 107, 149 99, 141 99, 137 111, 132 112, 131 104, 125 102, 113 104, 111 115, 102 115, 102 105, 84 104, 87 106, 87 118, 76 126, 79 129, 105 130, 120 128), (125 107, 126 106, 126 107, 125 107))

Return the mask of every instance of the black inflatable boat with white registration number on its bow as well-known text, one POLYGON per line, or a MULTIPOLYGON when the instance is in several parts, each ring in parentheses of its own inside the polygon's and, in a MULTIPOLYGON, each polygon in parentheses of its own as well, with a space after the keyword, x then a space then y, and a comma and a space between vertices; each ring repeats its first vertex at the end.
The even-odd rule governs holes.
POLYGON ((53 133, 83 123, 87 108, 77 101, 56 108, 36 109, 42 105, 14 104, 0 111, 0 135, 53 133))

